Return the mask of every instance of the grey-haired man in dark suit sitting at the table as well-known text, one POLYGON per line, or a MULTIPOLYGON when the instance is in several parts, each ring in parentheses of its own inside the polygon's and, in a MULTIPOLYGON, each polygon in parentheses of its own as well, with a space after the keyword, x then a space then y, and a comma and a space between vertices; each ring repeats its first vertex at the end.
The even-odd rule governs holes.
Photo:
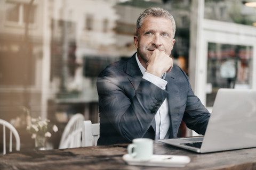
POLYGON ((194 95, 185 72, 173 65, 174 34, 175 21, 162 8, 148 8, 139 16, 137 53, 110 64, 98 77, 98 145, 175 138, 182 120, 205 133, 210 113, 194 95))

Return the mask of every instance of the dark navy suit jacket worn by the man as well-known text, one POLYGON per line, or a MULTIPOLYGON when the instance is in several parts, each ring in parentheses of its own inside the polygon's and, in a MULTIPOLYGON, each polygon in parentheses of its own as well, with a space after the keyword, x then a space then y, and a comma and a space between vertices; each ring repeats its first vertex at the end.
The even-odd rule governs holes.
POLYGON ((155 114, 165 98, 171 118, 170 138, 177 137, 183 120, 204 134, 210 113, 194 95, 188 77, 173 66, 166 74, 166 90, 142 79, 135 54, 110 64, 97 80, 100 114, 98 145, 130 143, 134 138, 155 139, 155 114))

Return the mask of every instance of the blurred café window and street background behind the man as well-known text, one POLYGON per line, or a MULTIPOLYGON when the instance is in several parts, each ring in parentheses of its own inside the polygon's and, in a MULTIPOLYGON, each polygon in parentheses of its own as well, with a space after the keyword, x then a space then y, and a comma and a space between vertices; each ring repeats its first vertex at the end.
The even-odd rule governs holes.
MULTIPOLYGON (((256 89, 256 1, 0 0, 0 118, 11 122, 21 150, 34 147, 26 117, 57 124, 76 113, 99 122, 97 76, 131 57, 135 23, 148 7, 177 24, 175 64, 211 111, 219 88, 256 89), (249 3, 249 4, 248 4, 249 3)), ((179 136, 194 134, 181 125, 179 136)))

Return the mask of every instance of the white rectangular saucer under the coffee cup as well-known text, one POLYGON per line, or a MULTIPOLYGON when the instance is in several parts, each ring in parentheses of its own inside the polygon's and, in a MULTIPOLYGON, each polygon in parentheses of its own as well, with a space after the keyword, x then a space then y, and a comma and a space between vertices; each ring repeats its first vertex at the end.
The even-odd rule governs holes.
POLYGON ((190 162, 190 158, 188 156, 181 155, 153 155, 150 160, 143 161, 135 159, 129 154, 125 154, 123 159, 129 165, 163 167, 185 167, 190 162))

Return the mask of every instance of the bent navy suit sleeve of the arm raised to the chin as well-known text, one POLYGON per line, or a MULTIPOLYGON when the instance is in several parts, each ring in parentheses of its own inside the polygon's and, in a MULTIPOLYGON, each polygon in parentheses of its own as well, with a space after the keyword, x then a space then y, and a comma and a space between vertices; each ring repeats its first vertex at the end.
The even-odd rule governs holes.
POLYGON ((167 92, 142 78, 131 82, 118 70, 105 69, 98 77, 99 112, 127 140, 142 138, 155 120, 167 92), (132 84, 138 84, 135 88, 132 84))

